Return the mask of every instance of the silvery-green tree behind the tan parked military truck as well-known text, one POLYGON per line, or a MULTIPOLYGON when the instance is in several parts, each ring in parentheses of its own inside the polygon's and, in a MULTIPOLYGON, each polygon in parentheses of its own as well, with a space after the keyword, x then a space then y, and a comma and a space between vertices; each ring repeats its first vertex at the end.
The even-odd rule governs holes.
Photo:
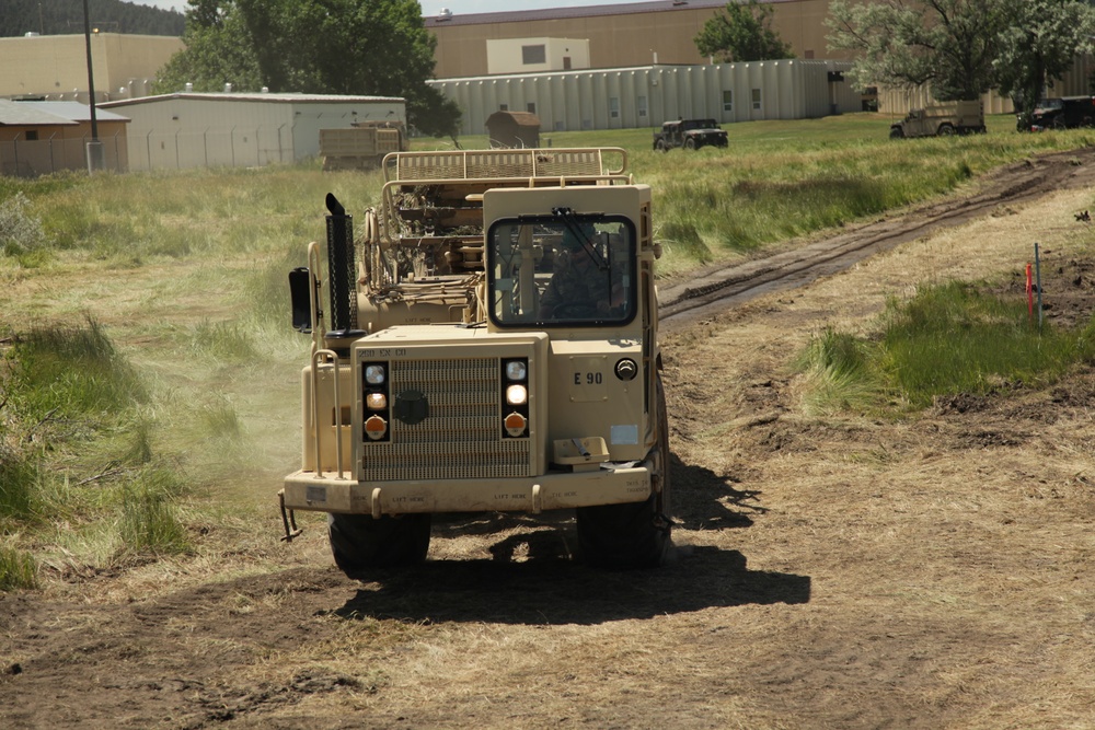
POLYGON ((972 101, 993 88, 1007 24, 1003 0, 833 0, 826 19, 829 48, 857 55, 849 74, 856 88, 931 83, 941 101, 972 101))

